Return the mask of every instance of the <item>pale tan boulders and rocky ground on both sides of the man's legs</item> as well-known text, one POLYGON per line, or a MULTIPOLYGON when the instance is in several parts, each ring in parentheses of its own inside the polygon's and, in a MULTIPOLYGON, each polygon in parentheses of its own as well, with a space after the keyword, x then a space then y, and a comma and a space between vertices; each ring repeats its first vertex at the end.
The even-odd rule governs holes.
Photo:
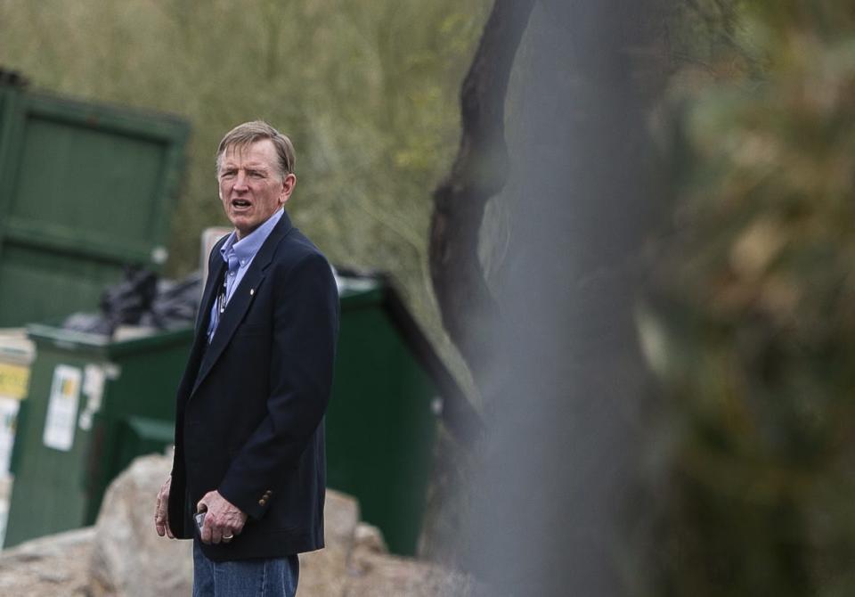
MULTIPOLYGON (((0 595, 166 597, 191 593, 191 544, 154 532, 153 496, 170 462, 134 461, 110 486, 94 527, 47 536, 0 552, 0 595), (142 507, 144 505, 144 507, 142 507)), ((326 544, 300 556, 299 597, 475 597, 471 577, 387 552, 359 505, 328 491, 326 544)))

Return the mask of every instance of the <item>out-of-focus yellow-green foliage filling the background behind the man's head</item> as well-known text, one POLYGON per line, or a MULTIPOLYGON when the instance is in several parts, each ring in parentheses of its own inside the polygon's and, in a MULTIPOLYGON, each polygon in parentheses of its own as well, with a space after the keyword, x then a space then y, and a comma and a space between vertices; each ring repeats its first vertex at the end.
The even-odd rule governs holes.
POLYGON ((0 62, 37 88, 191 121, 171 274, 198 266, 204 227, 227 224, 216 143, 269 120, 297 147, 297 225, 334 263, 394 274, 449 355, 428 279, 431 192, 457 148, 460 80, 489 4, 4 0, 0 62))

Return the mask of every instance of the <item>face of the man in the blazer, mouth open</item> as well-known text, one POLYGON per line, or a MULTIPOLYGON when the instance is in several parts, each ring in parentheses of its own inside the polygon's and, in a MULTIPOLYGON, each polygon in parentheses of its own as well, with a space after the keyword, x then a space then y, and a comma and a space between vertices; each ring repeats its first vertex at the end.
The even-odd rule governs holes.
POLYGON ((217 179, 225 215, 238 231, 239 240, 273 216, 297 183, 293 174, 281 177, 276 148, 270 139, 226 148, 217 179))

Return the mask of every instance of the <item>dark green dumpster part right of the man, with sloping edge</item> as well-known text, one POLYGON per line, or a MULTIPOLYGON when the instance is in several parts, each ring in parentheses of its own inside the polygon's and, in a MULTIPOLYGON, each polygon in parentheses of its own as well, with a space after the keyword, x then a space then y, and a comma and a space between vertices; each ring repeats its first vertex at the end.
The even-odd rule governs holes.
POLYGON ((383 276, 342 281, 327 484, 359 499, 362 519, 383 531, 391 552, 411 555, 439 415, 468 402, 394 286, 383 276))

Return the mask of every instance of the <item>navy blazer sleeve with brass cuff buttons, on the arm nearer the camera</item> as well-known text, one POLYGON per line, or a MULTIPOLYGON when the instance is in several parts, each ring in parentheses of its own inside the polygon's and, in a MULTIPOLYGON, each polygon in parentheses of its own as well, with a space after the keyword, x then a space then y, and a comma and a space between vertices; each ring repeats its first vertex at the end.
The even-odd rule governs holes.
MULTIPOLYGON (((276 268, 277 266, 273 266, 276 268)), ((282 267, 281 265, 279 267, 282 267)), ((296 467, 330 401, 338 338, 338 289, 330 264, 310 253, 273 272, 273 337, 267 414, 232 461, 218 491, 254 519, 258 503, 296 467)))

